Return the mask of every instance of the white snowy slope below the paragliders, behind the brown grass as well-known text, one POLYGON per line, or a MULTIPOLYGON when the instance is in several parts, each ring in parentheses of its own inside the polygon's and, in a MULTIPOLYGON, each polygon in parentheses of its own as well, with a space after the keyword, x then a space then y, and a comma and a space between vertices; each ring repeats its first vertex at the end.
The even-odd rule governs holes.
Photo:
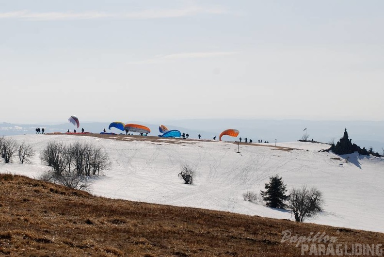
POLYGON ((306 184, 324 193, 325 211, 306 222, 384 232, 381 158, 351 154, 348 163, 332 160, 338 156, 319 152, 329 145, 303 142, 277 144, 296 148, 289 151, 277 149, 274 144, 240 145, 239 154, 238 145, 219 141, 117 141, 69 135, 12 137, 32 145, 36 156, 33 164, 0 163, 1 173, 38 178, 48 170, 41 164, 40 151, 49 141, 86 141, 102 146, 112 160, 112 168, 105 176, 93 179, 91 193, 96 195, 292 219, 287 211, 243 201, 241 195, 249 190, 264 190, 269 177, 278 174, 288 188, 306 184), (184 185, 177 177, 184 164, 196 171, 193 185, 184 185))

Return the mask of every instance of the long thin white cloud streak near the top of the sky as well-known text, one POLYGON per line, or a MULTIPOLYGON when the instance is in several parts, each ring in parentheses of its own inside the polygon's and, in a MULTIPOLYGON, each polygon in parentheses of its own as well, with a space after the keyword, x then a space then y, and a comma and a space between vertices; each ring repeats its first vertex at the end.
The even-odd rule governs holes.
POLYGON ((179 9, 148 9, 138 12, 104 13, 97 11, 87 12, 31 12, 28 10, 0 13, 0 19, 26 19, 26 20, 75 20, 75 19, 156 19, 193 16, 199 14, 225 14, 227 11, 221 7, 192 6, 179 9))

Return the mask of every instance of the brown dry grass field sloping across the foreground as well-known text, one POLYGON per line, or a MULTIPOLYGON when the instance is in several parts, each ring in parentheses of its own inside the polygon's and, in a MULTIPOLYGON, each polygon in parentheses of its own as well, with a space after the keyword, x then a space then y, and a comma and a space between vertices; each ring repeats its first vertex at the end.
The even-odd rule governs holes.
POLYGON ((285 230, 384 243, 382 233, 114 200, 0 174, 3 256, 301 256, 300 246, 281 241, 285 230))

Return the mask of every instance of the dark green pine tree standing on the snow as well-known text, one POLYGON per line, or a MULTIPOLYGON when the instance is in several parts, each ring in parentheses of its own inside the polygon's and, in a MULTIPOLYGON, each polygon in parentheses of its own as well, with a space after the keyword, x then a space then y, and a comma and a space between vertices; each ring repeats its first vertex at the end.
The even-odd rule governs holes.
POLYGON ((269 184, 265 184, 266 191, 261 191, 261 196, 266 205, 271 208, 284 209, 284 201, 288 200, 286 195, 287 185, 284 184, 282 177, 278 175, 270 177, 269 184))

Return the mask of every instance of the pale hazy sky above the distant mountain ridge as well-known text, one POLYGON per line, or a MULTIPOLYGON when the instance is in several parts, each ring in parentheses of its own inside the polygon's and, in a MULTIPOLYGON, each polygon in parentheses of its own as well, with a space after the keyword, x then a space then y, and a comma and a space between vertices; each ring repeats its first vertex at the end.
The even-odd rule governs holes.
POLYGON ((0 0, 0 122, 383 120, 383 0, 0 0))

